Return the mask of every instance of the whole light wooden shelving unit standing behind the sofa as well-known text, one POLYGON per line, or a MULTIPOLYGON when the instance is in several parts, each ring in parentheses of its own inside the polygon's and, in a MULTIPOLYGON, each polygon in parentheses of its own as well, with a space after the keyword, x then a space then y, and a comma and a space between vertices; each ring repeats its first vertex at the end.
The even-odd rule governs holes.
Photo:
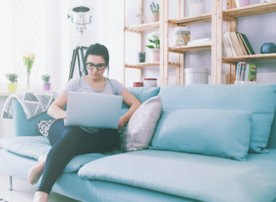
MULTIPOLYGON (((126 1, 126 0, 124 0, 126 1)), ((160 0, 160 22, 146 23, 142 25, 125 26, 124 31, 137 32, 142 34, 150 30, 159 30, 160 32, 160 63, 134 63, 124 64, 126 68, 142 69, 145 67, 159 66, 160 85, 168 85, 168 68, 176 68, 176 84, 184 85, 184 66, 185 53, 190 51, 199 51, 211 49, 211 83, 222 83, 222 63, 226 65, 226 84, 235 82, 235 65, 239 61, 250 62, 255 60, 276 60, 276 54, 255 54, 249 56, 224 57, 222 56, 222 27, 223 21, 226 21, 226 32, 237 31, 237 19, 244 16, 253 16, 257 14, 266 14, 276 12, 276 1, 270 3, 257 3, 242 8, 236 8, 235 0, 212 0, 212 11, 199 16, 185 16, 185 0, 177 0, 177 18, 168 19, 168 0, 160 0), (226 10, 222 10, 222 3, 226 2, 226 10), (181 27, 198 23, 211 22, 212 42, 196 45, 169 46, 168 45, 168 27, 181 27), (179 54, 177 63, 170 63, 169 53, 179 54)), ((140 0, 140 11, 142 14, 143 1, 140 0)), ((246 34, 246 33, 245 33, 246 34)), ((140 35, 142 38, 142 35, 140 35)), ((141 46, 142 49, 142 46, 141 46)))

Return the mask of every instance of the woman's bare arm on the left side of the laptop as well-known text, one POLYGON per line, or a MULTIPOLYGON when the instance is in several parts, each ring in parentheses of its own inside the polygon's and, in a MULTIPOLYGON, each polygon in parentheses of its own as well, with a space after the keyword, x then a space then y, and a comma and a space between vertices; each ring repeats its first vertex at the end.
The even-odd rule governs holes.
POLYGON ((55 119, 64 119, 66 117, 66 111, 64 111, 62 108, 67 104, 67 100, 68 92, 63 91, 49 106, 47 111, 48 115, 55 119))

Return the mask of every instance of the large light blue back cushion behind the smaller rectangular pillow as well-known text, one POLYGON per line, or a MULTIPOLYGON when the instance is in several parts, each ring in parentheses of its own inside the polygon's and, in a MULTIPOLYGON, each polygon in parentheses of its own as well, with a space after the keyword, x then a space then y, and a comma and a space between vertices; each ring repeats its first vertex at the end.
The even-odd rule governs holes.
POLYGON ((164 109, 234 109, 253 113, 250 151, 261 153, 276 108, 276 84, 166 86, 160 90, 164 109))

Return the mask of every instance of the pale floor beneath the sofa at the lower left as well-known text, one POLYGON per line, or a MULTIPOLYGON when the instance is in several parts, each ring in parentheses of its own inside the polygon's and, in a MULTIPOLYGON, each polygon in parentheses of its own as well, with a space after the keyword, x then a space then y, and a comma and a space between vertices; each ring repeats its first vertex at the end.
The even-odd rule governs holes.
MULTIPOLYGON (((12 178, 13 190, 9 191, 8 175, 0 172, 0 199, 8 202, 30 202, 38 185, 31 186, 28 182, 15 177, 12 178)), ((51 192, 48 202, 77 202, 74 199, 64 197, 55 192, 51 192)))

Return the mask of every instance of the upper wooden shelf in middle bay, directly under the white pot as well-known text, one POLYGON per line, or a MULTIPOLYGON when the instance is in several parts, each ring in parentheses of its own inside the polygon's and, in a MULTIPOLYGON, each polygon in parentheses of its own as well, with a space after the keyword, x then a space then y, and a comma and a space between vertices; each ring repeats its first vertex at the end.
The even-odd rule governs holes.
POLYGON ((201 14, 199 16, 187 16, 181 19, 170 19, 168 22, 175 26, 186 26, 197 23, 206 23, 212 21, 212 14, 201 14))

